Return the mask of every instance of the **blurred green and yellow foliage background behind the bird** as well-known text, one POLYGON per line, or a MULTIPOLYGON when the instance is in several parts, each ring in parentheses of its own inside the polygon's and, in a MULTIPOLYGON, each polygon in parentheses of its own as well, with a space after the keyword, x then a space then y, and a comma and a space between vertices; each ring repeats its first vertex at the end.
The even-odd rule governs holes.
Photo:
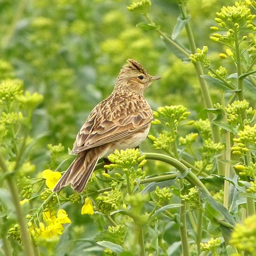
MULTIPOLYGON (((93 107, 112 92, 115 79, 127 58, 137 60, 151 75, 161 76, 161 80, 153 83, 145 93, 154 110, 164 105, 184 105, 191 112, 191 120, 204 110, 193 63, 177 58, 153 30, 144 31, 136 27, 145 20, 127 10, 132 2, 0 1, 0 59, 10 63, 10 66, 0 67, 0 76, 2 73, 20 78, 24 81, 25 91, 44 95, 44 101, 32 117, 31 137, 37 140, 28 159, 36 166, 31 176, 36 177, 51 165, 49 143, 65 146, 65 152, 51 168, 67 159, 60 171, 68 167, 73 160, 68 155, 68 148, 72 148, 77 132, 93 107)), ((225 65, 228 74, 236 73, 235 67, 230 60, 219 58, 219 53, 225 48, 209 39, 212 34, 209 28, 216 25, 215 13, 223 5, 233 4, 231 0, 187 2, 197 47, 202 49, 207 45, 212 66, 225 65)), ((166 33, 172 34, 178 16, 177 1, 152 1, 151 18, 166 33)), ((189 49, 185 31, 181 32, 179 41, 189 49)), ((221 102, 219 90, 211 86, 209 90, 212 101, 221 102)), ((246 91, 245 94, 250 106, 255 108, 255 95, 246 91)), ((193 129, 184 127, 181 133, 191 131, 193 129)), ((155 133, 156 128, 153 127, 151 134, 155 133)), ((146 140, 142 151, 156 150, 152 142, 146 140)), ((147 175, 153 175, 167 172, 168 168, 152 161, 146 170, 147 175)), ((67 250, 68 255, 83 255, 79 251, 92 247, 91 239, 99 228, 94 222, 100 217, 80 215, 81 204, 68 204, 65 209, 72 224, 61 237, 59 247, 61 251, 67 250), (73 247, 66 243, 65 247, 65 242, 72 239, 81 241, 73 247)), ((177 223, 170 223, 168 230, 172 225, 172 234, 164 233, 164 239, 175 243, 180 240, 180 235, 177 223)), ((95 255, 97 250, 100 255, 99 247, 94 246, 91 255, 95 255)))

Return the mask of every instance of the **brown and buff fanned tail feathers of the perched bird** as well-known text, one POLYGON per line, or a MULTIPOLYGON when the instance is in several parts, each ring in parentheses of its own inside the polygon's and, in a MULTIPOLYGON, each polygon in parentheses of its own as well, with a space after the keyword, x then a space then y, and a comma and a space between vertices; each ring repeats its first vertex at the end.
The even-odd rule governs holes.
POLYGON ((84 187, 86 187, 98 160, 99 157, 93 150, 80 152, 55 185, 53 192, 71 184, 71 187, 76 190, 77 193, 81 193, 84 187))

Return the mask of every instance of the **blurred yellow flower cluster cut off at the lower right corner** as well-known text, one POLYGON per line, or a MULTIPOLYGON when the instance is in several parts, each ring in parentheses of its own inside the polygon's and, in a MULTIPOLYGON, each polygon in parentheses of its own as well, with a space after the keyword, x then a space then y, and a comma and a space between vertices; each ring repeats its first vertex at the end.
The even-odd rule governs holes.
POLYGON ((256 215, 250 216, 242 224, 237 224, 231 234, 230 244, 250 253, 256 251, 256 215))

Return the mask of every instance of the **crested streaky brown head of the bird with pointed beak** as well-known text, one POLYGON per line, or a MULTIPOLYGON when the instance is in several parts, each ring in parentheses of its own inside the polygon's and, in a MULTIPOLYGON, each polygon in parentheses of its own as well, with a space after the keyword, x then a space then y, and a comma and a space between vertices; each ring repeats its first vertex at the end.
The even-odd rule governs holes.
POLYGON ((158 79, 160 77, 148 74, 134 59, 127 59, 127 63, 122 67, 117 77, 115 90, 133 90, 143 94, 148 86, 158 79))

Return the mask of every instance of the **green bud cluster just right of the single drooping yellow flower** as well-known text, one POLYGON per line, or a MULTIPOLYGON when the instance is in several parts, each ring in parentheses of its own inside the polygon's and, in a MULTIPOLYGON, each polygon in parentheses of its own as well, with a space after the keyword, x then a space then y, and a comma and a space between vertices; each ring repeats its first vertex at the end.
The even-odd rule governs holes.
POLYGON ((98 210, 105 215, 109 215, 110 212, 118 209, 120 198, 121 193, 115 188, 114 190, 103 192, 95 200, 98 210))

